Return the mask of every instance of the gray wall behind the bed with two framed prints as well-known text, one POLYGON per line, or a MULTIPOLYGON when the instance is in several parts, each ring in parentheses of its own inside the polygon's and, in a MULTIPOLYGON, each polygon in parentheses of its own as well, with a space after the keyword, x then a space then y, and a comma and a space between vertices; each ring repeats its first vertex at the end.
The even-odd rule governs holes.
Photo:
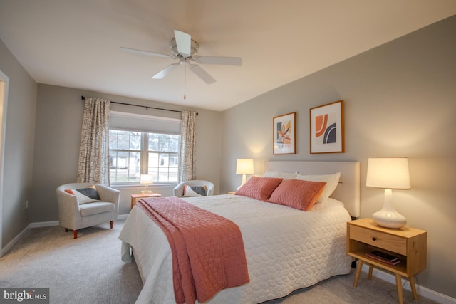
POLYGON ((453 16, 224 111, 221 191, 241 182, 237 158, 255 159, 256 174, 266 159, 356 160, 361 217, 371 217, 383 191, 365 187, 368 157, 409 157, 412 189, 394 191, 393 201, 409 226, 428 232, 418 284, 456 298, 455 37, 453 16), (337 100, 346 152, 310 154, 309 109, 337 100), (297 112, 297 154, 273 155, 272 119, 289 112, 297 112))

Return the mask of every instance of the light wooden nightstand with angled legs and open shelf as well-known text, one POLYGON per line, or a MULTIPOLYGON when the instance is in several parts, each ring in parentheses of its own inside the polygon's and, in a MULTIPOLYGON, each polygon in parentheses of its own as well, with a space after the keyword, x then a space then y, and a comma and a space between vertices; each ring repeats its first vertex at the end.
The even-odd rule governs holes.
POLYGON ((395 273, 399 303, 403 303, 402 277, 408 278, 413 298, 418 300, 415 288, 415 274, 426 268, 427 232, 404 226, 388 229, 378 226, 372 219, 358 219, 347 223, 347 254, 358 258, 359 264, 353 286, 358 285, 363 263, 369 264, 368 279, 372 278, 372 268, 381 268, 395 273), (400 258, 400 263, 390 266, 366 256, 374 250, 383 251, 400 258))

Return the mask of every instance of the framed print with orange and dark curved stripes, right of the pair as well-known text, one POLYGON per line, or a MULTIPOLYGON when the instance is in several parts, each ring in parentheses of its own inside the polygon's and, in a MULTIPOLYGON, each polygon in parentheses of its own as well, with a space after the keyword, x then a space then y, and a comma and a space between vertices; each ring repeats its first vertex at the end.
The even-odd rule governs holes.
POLYGON ((320 105, 309 110, 310 152, 345 152, 343 100, 320 105))

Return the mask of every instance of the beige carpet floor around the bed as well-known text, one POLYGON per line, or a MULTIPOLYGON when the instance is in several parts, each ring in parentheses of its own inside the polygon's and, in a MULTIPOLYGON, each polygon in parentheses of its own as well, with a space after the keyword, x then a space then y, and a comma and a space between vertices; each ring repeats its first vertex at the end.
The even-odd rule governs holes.
MULTIPOLYGON (((0 287, 50 288, 50 303, 56 304, 135 303, 142 283, 135 263, 120 260, 123 223, 115 221, 113 229, 108 223, 82 229, 76 240, 57 226, 29 229, 0 258, 0 287)), ((267 303, 398 303, 395 285, 378 278, 368 281, 362 273, 353 288, 353 278, 354 271, 267 303)), ((404 303, 433 302, 423 296, 414 301, 404 290, 404 303)))

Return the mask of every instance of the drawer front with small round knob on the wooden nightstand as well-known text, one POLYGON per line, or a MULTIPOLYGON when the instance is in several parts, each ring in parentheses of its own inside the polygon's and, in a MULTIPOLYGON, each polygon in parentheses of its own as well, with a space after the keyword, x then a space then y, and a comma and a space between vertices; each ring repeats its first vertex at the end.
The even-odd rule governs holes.
POLYGON ((403 256, 407 255, 407 239, 400 236, 352 225, 350 227, 350 239, 399 253, 403 256))

